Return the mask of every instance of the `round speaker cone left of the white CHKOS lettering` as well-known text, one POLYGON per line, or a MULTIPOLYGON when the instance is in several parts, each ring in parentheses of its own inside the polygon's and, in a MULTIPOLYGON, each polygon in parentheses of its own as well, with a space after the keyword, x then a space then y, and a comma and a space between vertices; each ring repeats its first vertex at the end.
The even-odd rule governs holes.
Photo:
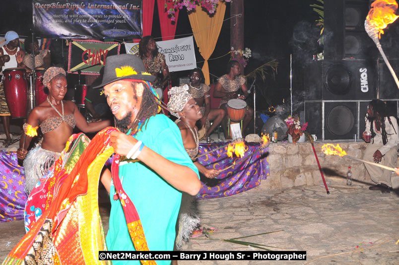
POLYGON ((326 88, 334 95, 346 95, 351 83, 351 74, 343 65, 333 65, 326 73, 326 88))

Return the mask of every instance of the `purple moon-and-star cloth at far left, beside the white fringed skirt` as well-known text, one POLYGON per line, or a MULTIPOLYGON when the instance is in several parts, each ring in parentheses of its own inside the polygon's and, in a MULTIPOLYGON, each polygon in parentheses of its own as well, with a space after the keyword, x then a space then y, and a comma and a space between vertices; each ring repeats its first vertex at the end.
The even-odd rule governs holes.
POLYGON ((0 223, 21 220, 27 199, 16 152, 0 151, 0 223))

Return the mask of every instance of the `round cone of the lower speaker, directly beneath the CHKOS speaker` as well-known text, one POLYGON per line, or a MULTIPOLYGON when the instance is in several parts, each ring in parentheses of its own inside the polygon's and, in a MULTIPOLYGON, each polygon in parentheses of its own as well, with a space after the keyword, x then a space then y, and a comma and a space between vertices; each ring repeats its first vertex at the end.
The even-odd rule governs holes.
POLYGON ((327 115, 328 130, 335 135, 349 133, 355 124, 355 117, 352 111, 346 106, 335 106, 327 115))

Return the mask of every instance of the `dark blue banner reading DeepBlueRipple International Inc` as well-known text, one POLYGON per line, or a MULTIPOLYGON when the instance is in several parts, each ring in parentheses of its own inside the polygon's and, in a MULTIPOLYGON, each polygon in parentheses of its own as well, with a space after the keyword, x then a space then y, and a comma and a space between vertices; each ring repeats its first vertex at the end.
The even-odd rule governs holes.
POLYGON ((141 0, 32 0, 35 33, 46 38, 140 38, 141 0))

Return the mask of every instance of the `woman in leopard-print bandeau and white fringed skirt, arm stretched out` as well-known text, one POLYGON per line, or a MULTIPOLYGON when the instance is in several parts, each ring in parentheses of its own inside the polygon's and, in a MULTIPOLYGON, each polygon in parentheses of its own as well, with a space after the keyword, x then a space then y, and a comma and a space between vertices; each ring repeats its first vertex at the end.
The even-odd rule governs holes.
POLYGON ((39 179, 60 158, 61 151, 64 150, 75 125, 82 132, 91 133, 98 132, 111 124, 110 121, 88 124, 75 103, 64 100, 67 78, 63 68, 48 68, 43 75, 43 84, 49 89, 47 100, 31 111, 28 122, 24 125, 24 131, 29 126, 33 128, 40 126, 43 133, 42 141, 28 153, 26 148, 32 137, 26 136, 25 139, 22 135, 17 150, 18 159, 24 160, 25 191, 28 195, 39 179))

